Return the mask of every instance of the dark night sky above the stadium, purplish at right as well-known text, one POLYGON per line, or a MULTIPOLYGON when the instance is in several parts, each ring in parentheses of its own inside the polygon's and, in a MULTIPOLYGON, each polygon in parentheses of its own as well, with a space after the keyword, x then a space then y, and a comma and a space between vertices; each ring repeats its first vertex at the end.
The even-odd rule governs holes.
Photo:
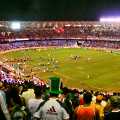
POLYGON ((0 0, 0 20, 98 20, 120 15, 120 0, 0 0))

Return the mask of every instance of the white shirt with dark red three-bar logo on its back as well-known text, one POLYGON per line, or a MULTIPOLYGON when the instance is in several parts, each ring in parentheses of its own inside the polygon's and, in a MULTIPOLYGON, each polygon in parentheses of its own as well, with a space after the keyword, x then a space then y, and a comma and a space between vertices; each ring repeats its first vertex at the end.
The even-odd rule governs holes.
POLYGON ((69 114, 55 98, 50 98, 34 114, 34 117, 40 118, 41 120, 67 120, 69 119, 69 114))

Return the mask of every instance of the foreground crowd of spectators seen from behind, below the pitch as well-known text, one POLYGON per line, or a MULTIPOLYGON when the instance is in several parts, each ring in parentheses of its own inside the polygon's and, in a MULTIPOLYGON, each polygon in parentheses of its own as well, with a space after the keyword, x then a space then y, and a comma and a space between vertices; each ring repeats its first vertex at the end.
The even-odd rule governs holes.
POLYGON ((119 92, 68 88, 56 76, 48 85, 0 79, 1 120, 120 119, 119 92))

